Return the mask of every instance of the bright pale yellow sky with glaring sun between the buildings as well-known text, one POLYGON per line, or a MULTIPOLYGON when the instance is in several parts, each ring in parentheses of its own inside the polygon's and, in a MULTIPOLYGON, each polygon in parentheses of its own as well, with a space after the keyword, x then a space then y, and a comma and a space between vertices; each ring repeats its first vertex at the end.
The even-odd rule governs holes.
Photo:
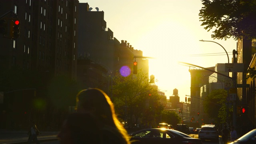
POLYGON ((232 50, 236 41, 214 40, 199 21, 201 0, 79 0, 87 2, 92 11, 104 11, 107 27, 114 37, 127 42, 134 49, 142 50, 149 60, 149 76, 154 75, 160 91, 166 91, 167 99, 178 89, 180 101, 190 95, 189 67, 178 61, 202 67, 217 63, 232 63, 232 50), (221 44, 225 50, 214 42, 221 44), (216 54, 218 53, 218 54, 216 54), (210 54, 214 56, 189 56, 210 54))

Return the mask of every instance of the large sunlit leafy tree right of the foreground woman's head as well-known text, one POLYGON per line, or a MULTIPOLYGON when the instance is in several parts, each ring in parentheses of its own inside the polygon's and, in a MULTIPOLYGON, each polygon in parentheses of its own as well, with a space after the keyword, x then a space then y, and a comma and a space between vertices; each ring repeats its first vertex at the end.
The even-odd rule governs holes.
MULTIPOLYGON (((128 123, 132 122, 135 116, 136 123, 138 118, 152 121, 155 114, 159 114, 163 109, 160 104, 160 95, 157 90, 150 87, 148 76, 138 70, 138 74, 122 76, 119 72, 113 78, 113 103, 116 113, 128 123)), ((146 122, 144 122, 146 123, 146 122)))

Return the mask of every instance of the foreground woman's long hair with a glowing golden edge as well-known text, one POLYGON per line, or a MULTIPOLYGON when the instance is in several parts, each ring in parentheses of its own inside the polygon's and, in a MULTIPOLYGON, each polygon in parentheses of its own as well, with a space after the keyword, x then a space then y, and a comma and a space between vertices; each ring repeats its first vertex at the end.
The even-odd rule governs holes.
POLYGON ((108 95, 98 88, 81 90, 76 96, 77 112, 92 112, 103 125, 116 128, 122 138, 130 143, 130 136, 118 120, 114 104, 108 95))

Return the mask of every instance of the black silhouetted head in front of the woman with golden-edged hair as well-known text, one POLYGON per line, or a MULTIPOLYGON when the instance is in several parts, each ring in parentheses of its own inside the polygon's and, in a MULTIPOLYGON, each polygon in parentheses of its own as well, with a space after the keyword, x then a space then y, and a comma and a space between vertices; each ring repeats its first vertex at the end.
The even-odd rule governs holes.
POLYGON ((60 144, 103 144, 100 126, 90 113, 69 114, 58 134, 60 144))

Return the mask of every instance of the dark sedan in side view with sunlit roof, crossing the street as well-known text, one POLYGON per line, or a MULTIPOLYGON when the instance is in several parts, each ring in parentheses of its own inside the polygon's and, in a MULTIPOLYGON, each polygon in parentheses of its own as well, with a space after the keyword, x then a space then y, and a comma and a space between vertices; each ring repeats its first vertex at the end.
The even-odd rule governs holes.
POLYGON ((130 136, 132 144, 202 144, 198 138, 166 128, 147 128, 130 136))

